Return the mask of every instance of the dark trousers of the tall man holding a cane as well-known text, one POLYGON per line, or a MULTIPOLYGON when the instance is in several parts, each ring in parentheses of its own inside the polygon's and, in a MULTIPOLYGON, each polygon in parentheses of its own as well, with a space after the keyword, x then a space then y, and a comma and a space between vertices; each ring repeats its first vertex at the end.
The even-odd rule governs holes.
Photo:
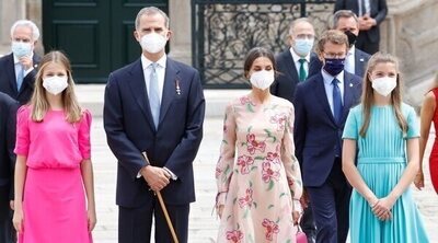
MULTIPOLYGON (((180 242, 187 242, 189 205, 166 205, 173 228, 180 242)), ((150 242, 152 216, 154 218, 154 239, 158 243, 171 243, 172 233, 165 221, 158 198, 138 208, 118 207, 118 242, 150 242)))

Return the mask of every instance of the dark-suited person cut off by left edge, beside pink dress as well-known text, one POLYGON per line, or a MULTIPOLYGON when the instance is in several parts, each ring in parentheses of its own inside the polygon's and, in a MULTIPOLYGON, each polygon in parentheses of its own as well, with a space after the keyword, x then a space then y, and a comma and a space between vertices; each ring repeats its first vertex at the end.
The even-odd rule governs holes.
POLYGON ((12 225, 15 116, 19 104, 0 92, 0 243, 15 242, 12 225))

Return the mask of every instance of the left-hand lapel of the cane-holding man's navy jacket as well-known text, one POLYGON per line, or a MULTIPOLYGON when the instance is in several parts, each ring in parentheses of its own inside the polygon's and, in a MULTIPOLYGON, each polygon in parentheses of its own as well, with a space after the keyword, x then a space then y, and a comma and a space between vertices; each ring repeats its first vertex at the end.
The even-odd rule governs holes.
POLYGON ((153 124, 152 113, 150 111, 148 91, 145 82, 145 73, 142 70, 141 61, 138 59, 131 67, 130 80, 128 82, 132 97, 135 97, 137 104, 140 106, 146 119, 149 121, 149 126, 154 130, 155 125, 153 124))

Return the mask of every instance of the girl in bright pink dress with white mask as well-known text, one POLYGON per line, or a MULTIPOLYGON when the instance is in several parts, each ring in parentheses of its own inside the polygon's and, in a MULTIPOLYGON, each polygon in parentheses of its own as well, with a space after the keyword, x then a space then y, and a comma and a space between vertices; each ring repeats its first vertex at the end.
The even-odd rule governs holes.
POLYGON ((18 112, 13 224, 21 243, 92 242, 91 114, 79 106, 73 85, 67 57, 50 51, 30 104, 18 112))

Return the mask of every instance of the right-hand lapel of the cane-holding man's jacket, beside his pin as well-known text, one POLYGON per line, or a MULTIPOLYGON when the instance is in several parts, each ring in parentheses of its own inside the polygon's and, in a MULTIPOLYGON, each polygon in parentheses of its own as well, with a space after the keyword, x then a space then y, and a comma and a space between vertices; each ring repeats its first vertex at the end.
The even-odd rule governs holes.
POLYGON ((160 121, 159 127, 165 114, 168 113, 169 107, 172 104, 173 99, 175 97, 176 84, 182 85, 181 80, 177 76, 180 70, 175 66, 174 61, 170 58, 166 60, 165 74, 164 74, 164 85, 163 85, 163 95, 161 97, 161 107, 160 107, 160 121))

